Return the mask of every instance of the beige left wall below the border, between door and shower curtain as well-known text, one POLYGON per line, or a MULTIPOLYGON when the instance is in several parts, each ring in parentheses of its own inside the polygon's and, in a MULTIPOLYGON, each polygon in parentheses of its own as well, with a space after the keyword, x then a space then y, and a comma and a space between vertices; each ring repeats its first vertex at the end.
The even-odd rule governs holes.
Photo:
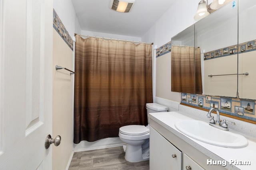
POLYGON ((52 148, 52 169, 64 170, 73 156, 73 79, 67 70, 55 70, 55 66, 72 69, 73 51, 53 29, 52 75, 52 138, 60 135, 58 147, 52 148))

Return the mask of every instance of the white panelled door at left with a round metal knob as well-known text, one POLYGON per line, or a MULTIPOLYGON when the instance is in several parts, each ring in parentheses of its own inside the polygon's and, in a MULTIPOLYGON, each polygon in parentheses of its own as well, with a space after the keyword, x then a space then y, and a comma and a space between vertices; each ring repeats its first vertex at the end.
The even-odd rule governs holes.
POLYGON ((52 169, 52 0, 0 0, 0 170, 52 169))

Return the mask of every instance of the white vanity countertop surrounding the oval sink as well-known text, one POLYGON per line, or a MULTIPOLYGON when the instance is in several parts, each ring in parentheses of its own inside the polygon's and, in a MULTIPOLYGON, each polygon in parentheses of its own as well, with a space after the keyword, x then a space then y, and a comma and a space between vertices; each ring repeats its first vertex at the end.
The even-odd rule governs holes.
MULTIPOLYGON (((149 113, 151 119, 156 121, 158 124, 162 125, 170 132, 174 133, 182 140, 186 141, 196 149, 200 150, 200 152, 204 153, 206 156, 216 160, 216 155, 220 158, 224 159, 228 162, 230 160, 237 160, 237 161, 250 161, 251 165, 237 165, 234 164, 237 168, 241 170, 254 170, 256 169, 256 139, 254 137, 246 136, 242 134, 248 140, 248 146, 244 148, 225 148, 225 147, 218 147, 214 145, 210 145, 208 143, 204 143, 193 139, 187 135, 184 135, 175 127, 175 123, 177 121, 183 120, 200 120, 196 117, 192 117, 186 113, 181 111, 170 111, 170 112, 162 112, 162 113, 149 113)), ((204 121, 204 120, 201 120, 204 121)), ((230 125, 231 126, 231 125, 230 125)), ((229 128, 230 129, 230 128, 229 128)), ((256 129, 255 129, 256 131, 256 129)), ((230 129, 230 132, 238 133, 230 129)), ((231 166, 226 166, 228 169, 231 166)))

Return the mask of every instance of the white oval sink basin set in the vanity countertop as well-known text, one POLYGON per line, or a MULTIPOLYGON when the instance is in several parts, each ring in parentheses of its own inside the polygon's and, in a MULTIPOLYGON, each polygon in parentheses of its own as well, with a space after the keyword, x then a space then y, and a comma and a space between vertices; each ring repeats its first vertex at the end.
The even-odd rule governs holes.
POLYGON ((175 127, 189 137, 219 147, 242 148, 248 145, 244 136, 230 131, 222 131, 204 121, 179 121, 175 123, 175 127))

